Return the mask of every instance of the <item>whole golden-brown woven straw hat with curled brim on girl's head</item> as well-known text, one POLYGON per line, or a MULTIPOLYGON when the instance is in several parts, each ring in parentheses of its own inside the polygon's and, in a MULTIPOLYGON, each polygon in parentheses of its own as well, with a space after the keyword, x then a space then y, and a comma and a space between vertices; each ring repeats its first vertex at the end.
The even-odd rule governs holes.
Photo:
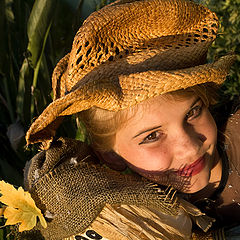
POLYGON ((218 19, 187 0, 120 0, 90 15, 57 64, 53 102, 27 132, 47 146, 63 116, 96 106, 119 111, 205 82, 221 84, 234 61, 206 64, 218 19))

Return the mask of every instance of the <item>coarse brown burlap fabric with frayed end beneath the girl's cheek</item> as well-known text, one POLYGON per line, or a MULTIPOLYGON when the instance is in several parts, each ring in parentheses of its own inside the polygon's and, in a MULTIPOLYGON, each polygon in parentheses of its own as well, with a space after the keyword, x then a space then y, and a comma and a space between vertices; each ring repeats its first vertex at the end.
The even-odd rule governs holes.
POLYGON ((38 230, 50 240, 82 232, 107 203, 151 207, 172 216, 180 209, 172 188, 101 166, 86 144, 71 139, 54 141, 36 155, 25 169, 24 185, 49 221, 46 229, 38 224, 19 239, 38 230))

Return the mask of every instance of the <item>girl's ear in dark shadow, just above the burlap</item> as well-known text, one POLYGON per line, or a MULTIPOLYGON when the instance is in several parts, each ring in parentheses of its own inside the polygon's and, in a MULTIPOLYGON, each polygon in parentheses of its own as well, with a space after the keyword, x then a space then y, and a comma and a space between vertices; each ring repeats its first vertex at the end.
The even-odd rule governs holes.
POLYGON ((102 162, 104 162, 108 167, 114 170, 123 171, 127 167, 125 160, 114 151, 104 152, 104 153, 95 152, 95 153, 102 162))

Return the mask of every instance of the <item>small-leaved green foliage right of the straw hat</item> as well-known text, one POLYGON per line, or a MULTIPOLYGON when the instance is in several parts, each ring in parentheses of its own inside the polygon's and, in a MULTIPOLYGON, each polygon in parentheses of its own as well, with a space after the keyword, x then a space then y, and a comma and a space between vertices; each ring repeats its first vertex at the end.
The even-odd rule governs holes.
POLYGON ((214 42, 209 59, 222 56, 229 52, 237 54, 230 77, 222 90, 225 96, 232 99, 240 94, 240 0, 200 0, 214 11, 220 21, 219 35, 214 42))

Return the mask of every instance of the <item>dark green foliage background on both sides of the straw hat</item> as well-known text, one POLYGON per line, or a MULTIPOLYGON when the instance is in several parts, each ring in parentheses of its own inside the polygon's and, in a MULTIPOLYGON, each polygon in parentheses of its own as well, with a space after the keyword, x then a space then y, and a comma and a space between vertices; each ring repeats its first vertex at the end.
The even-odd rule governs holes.
MULTIPOLYGON (((113 1, 113 0, 112 0, 113 1)), ((25 162, 36 149, 25 148, 24 135, 32 120, 51 102, 51 74, 71 49, 83 20, 110 0, 0 0, 0 178, 23 183, 25 162)), ((220 19, 219 37, 209 60, 237 53, 224 96, 240 92, 240 0, 200 0, 220 19)), ((75 121, 66 119, 59 135, 79 138, 75 121)), ((2 224, 3 220, 2 220, 2 224)), ((9 229, 0 239, 10 239, 9 229)))

